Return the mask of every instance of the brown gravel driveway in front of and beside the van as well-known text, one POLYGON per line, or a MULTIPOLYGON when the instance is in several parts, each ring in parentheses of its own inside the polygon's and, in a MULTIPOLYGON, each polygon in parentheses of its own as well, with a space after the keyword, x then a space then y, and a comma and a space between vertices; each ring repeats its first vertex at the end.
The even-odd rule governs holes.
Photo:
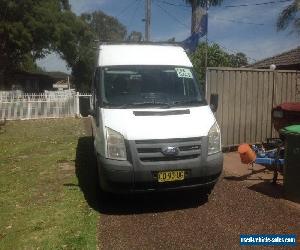
POLYGON ((299 204, 283 199, 282 176, 272 185, 271 172, 260 166, 253 172, 228 153, 208 198, 197 191, 100 195, 97 248, 239 249, 240 234, 299 238, 299 204))

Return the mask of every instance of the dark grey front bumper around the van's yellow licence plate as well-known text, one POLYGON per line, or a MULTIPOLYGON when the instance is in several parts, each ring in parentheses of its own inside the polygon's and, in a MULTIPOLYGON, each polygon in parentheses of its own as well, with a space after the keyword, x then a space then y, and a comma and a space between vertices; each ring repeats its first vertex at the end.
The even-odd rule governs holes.
POLYGON ((189 160, 138 164, 129 161, 110 160, 97 155, 99 181, 104 191, 134 193, 165 191, 213 186, 223 169, 222 152, 189 160), (183 181, 159 183, 157 172, 184 170, 183 181))

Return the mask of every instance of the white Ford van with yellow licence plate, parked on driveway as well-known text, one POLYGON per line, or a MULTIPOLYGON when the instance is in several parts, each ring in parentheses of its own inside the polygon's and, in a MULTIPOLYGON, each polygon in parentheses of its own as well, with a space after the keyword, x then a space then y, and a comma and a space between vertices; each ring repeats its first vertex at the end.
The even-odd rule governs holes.
POLYGON ((92 92, 104 191, 213 188, 223 167, 220 129, 182 47, 100 45, 92 92))

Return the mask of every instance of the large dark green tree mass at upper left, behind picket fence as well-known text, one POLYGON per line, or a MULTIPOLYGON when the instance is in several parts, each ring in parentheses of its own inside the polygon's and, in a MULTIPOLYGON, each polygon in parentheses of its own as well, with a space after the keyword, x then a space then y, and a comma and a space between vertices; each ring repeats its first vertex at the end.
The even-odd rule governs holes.
POLYGON ((1 0, 0 79, 15 70, 38 71, 36 59, 57 52, 72 68, 76 87, 87 90, 95 40, 121 41, 126 33, 124 25, 101 11, 76 16, 69 0, 1 0))

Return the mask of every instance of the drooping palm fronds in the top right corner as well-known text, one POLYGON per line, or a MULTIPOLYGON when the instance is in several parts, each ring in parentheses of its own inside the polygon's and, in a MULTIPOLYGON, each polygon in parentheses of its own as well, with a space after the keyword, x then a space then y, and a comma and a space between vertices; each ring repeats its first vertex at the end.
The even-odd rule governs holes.
POLYGON ((277 30, 286 29, 293 23, 295 30, 300 34, 300 0, 293 0, 279 15, 277 19, 277 30))

